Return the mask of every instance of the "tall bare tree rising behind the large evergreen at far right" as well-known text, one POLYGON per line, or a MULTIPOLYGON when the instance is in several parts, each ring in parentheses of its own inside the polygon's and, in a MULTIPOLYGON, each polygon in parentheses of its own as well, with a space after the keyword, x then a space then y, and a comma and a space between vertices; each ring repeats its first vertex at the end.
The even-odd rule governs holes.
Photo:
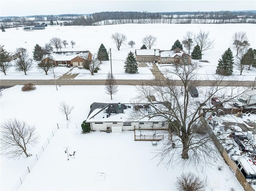
POLYGON ((234 49, 236 50, 236 56, 238 56, 240 51, 243 51, 243 49, 250 46, 250 44, 248 43, 246 32, 244 31, 235 32, 233 35, 232 44, 234 49))

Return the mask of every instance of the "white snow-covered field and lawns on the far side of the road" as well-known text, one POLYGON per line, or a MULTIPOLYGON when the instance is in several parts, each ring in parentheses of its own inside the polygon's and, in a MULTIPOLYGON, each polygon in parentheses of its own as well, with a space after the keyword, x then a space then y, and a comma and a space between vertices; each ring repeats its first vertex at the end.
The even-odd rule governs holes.
MULTIPOLYGON (((161 50, 171 49, 174 41, 179 39, 182 41, 183 36, 187 31, 198 33, 199 30, 209 31, 210 39, 214 39, 214 48, 203 52, 202 60, 209 61, 200 62, 198 77, 200 79, 214 78, 218 59, 228 47, 232 46, 232 35, 238 31, 247 33, 250 47, 256 48, 256 25, 255 24, 123 24, 123 25, 107 25, 107 26, 48 26, 45 30, 24 31, 22 28, 6 29, 6 32, 1 33, 1 45, 10 53, 14 53, 16 48, 24 47, 28 49, 30 56, 33 55, 33 49, 36 44, 44 46, 49 43, 52 37, 60 37, 62 40, 67 40, 68 43, 73 40, 76 42, 74 48, 67 45, 62 48, 62 51, 68 50, 89 50, 91 53, 97 53, 100 44, 103 43, 106 49, 112 50, 112 71, 116 79, 151 79, 153 77, 149 65, 148 67, 139 67, 138 74, 131 75, 124 73, 124 61, 130 51, 135 52, 135 49, 140 49, 142 46, 142 38, 146 35, 153 35, 157 38, 156 44, 152 48, 161 50), (123 33, 127 37, 127 42, 133 40, 136 44, 130 47, 126 44, 117 50, 115 43, 111 39, 113 33, 123 33), (26 43, 25 43, 26 42, 26 43)), ((54 49, 56 51, 56 49, 54 49)), ((233 50, 234 51, 234 50, 233 50)), ((101 70, 94 76, 90 75, 85 69, 56 67, 57 76, 60 77, 64 73, 76 73, 79 75, 74 79, 105 79, 106 74, 110 71, 110 61, 104 61, 101 65, 101 70)), ((169 68, 169 67, 168 67, 169 68)), ((166 67, 160 67, 160 71, 164 71, 166 67)), ((253 81, 256 70, 244 70, 242 76, 239 71, 234 69, 233 77, 238 80, 253 81)), ((52 79, 52 71, 46 76, 42 71, 34 68, 28 72, 17 73, 14 68, 7 72, 7 75, 0 74, 1 79, 52 79)))

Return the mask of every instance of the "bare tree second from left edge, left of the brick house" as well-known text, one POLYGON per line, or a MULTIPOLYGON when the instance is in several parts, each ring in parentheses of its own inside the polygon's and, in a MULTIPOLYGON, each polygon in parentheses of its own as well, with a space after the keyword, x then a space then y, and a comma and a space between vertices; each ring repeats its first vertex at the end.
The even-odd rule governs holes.
POLYGON ((32 68, 33 59, 28 57, 28 51, 25 48, 17 48, 18 58, 15 60, 16 70, 23 71, 27 75, 27 71, 32 68))

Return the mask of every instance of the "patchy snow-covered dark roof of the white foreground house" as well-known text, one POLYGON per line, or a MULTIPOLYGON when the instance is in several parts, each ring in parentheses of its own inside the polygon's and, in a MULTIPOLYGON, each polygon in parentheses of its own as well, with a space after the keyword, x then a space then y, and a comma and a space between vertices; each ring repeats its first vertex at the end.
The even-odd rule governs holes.
MULTIPOLYGON (((160 103, 156 103, 160 104, 160 103)), ((164 106, 161 104, 161 106, 164 106)), ((131 122, 131 121, 166 121, 161 116, 155 116, 152 118, 142 118, 142 119, 131 119, 134 113, 134 107, 141 109, 147 113, 154 113, 154 108, 150 104, 119 104, 119 103, 98 103, 94 102, 92 104, 91 110, 89 112, 86 122, 131 122)))

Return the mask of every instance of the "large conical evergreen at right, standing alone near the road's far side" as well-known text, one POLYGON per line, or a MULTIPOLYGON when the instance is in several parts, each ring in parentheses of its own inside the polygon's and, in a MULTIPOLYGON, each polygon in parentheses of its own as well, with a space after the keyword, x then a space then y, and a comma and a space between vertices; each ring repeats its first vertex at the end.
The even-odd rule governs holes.
POLYGON ((228 48, 219 59, 216 73, 219 75, 232 75, 233 73, 234 56, 230 48, 228 48))

